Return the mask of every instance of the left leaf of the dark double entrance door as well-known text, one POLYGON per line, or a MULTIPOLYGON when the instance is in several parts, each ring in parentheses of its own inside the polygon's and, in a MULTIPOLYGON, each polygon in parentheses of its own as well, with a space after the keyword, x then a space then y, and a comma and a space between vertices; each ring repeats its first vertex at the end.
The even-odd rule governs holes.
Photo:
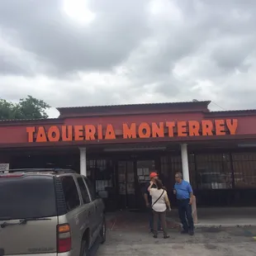
POLYGON ((119 161, 117 165, 119 206, 134 209, 136 207, 134 161, 119 161))

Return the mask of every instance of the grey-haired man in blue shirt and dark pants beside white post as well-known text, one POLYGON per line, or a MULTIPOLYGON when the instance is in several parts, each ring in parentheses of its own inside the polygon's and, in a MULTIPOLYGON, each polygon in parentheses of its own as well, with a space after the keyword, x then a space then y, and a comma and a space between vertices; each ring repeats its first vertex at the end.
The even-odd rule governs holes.
POLYGON ((178 215, 183 224, 182 234, 194 235, 194 222, 192 217, 193 191, 190 183, 183 180, 183 173, 175 174, 173 192, 178 200, 178 215))

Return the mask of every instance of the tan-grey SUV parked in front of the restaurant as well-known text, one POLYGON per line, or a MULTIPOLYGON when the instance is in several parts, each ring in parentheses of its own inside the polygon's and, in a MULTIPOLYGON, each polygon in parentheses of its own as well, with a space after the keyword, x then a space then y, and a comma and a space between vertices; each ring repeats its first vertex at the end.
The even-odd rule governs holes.
POLYGON ((85 256, 106 240, 105 207, 88 178, 66 169, 0 174, 0 256, 85 256))

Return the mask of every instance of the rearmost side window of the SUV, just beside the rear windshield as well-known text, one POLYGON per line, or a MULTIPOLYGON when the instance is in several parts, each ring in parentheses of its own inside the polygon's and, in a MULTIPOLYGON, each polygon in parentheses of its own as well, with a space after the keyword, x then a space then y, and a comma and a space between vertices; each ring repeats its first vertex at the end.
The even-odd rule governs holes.
POLYGON ((67 211, 72 211, 80 206, 78 188, 72 176, 64 176, 60 178, 64 190, 67 211))

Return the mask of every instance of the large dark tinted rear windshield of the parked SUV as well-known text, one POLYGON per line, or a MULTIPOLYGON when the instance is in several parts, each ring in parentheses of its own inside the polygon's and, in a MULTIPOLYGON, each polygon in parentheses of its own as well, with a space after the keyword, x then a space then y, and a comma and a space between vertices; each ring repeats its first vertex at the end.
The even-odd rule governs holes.
POLYGON ((0 177, 0 220, 57 216, 52 177, 0 177))

